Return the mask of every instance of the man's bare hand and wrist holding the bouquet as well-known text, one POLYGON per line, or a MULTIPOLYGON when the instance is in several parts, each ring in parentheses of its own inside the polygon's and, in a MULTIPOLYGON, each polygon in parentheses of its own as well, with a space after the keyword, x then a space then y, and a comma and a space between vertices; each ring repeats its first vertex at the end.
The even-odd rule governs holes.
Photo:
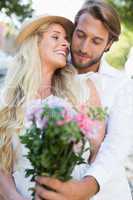
POLYGON ((81 181, 70 180, 62 182, 54 178, 38 177, 36 200, 88 200, 98 192, 99 186, 93 177, 81 181), (47 186, 52 190, 47 190, 47 186))

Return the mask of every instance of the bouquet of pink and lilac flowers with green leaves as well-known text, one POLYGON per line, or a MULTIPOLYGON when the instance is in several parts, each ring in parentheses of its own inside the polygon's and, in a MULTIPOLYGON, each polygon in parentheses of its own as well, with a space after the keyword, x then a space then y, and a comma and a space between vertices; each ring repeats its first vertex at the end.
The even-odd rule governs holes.
POLYGON ((85 163, 82 155, 88 150, 86 137, 96 123, 61 98, 32 101, 26 113, 25 133, 20 136, 32 165, 26 176, 31 176, 31 181, 38 175, 69 180, 75 165, 85 163))

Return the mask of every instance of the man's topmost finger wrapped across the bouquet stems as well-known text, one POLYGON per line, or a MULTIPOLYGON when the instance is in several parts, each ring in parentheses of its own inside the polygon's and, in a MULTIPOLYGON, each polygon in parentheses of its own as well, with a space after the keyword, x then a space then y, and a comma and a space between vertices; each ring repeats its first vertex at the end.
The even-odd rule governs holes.
POLYGON ((63 182, 59 181, 55 178, 49 178, 49 177, 38 177, 36 180, 40 185, 45 185, 50 187, 53 190, 61 191, 61 188, 63 187, 63 182))

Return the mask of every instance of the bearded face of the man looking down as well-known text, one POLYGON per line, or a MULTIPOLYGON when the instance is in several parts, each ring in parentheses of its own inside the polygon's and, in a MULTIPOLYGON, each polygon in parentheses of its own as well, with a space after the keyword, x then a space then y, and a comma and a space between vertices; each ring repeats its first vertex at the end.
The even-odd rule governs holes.
POLYGON ((79 70, 97 71, 105 50, 110 47, 109 33, 100 20, 84 13, 80 16, 72 38, 72 62, 79 70))

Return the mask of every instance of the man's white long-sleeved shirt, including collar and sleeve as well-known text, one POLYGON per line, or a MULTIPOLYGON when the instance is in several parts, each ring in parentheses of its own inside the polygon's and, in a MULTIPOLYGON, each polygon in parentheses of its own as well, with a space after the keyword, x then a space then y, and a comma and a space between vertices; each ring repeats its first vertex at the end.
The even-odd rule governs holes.
POLYGON ((103 106, 109 108, 104 142, 94 163, 80 168, 81 174, 93 176, 99 183, 100 191, 93 200, 131 200, 124 160, 133 141, 133 81, 105 61, 98 73, 79 76, 95 82, 103 106))

